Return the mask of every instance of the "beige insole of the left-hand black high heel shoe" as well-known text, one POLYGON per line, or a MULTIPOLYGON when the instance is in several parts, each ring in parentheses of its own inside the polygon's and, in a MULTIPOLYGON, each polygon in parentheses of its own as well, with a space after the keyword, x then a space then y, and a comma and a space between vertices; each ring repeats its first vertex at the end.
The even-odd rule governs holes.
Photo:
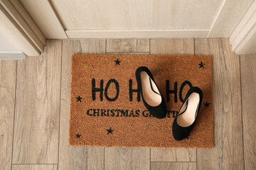
POLYGON ((149 106, 159 106, 161 103, 161 95, 156 84, 150 79, 146 72, 141 72, 140 76, 142 80, 142 94, 144 100, 149 106))

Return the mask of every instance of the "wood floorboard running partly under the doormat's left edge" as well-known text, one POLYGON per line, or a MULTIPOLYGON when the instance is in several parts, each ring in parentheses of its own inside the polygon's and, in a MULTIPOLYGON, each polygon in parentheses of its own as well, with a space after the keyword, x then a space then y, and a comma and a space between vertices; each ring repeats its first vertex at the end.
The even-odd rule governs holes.
POLYGON ((104 169, 104 147, 68 146, 71 55, 105 53, 105 40, 63 40, 58 169, 104 169))

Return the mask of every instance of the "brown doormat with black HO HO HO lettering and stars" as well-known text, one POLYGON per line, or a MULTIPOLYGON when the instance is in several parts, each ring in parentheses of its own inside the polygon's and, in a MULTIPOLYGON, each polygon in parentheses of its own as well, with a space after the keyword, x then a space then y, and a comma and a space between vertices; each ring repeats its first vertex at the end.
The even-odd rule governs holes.
POLYGON ((72 146, 213 147, 210 56, 72 56, 70 96, 72 146), (166 101, 166 118, 153 118, 137 91, 135 71, 148 67, 166 101), (190 86, 203 91, 196 126, 188 139, 174 140, 172 123, 190 86))

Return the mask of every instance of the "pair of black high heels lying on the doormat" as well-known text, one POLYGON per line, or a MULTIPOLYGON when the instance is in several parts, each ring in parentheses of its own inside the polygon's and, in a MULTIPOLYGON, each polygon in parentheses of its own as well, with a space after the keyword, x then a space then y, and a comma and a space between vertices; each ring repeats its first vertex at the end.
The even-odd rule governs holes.
MULTIPOLYGON (((146 109, 156 118, 165 118, 166 104, 150 70, 147 67, 139 67, 135 75, 146 109)), ((188 90, 184 103, 174 119, 172 131, 175 140, 188 138, 196 123, 202 99, 203 92, 198 87, 194 86, 188 90)))

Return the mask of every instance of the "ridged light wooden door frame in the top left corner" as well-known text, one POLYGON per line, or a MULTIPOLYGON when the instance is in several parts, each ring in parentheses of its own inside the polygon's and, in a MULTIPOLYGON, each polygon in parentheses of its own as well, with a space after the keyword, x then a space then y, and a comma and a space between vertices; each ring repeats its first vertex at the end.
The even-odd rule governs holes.
POLYGON ((0 0, 0 18, 1 33, 25 55, 37 56, 43 52, 46 38, 19 1, 0 0))

